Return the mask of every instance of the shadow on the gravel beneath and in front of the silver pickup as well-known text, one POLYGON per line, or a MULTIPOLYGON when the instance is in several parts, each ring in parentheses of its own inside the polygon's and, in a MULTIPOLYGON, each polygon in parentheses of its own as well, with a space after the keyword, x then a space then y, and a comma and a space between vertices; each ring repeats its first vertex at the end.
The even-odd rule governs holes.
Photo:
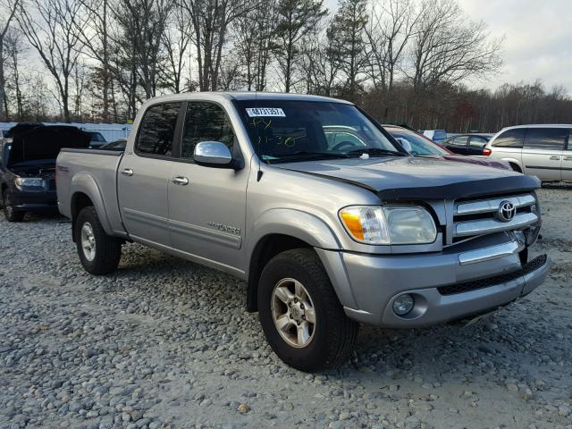
MULTIPOLYGON (((196 311, 204 306, 209 307, 208 314, 228 314, 240 319, 245 323, 238 324, 247 332, 229 336, 226 346, 234 343, 233 348, 240 349, 248 337, 253 349, 270 351, 257 315, 244 310, 246 283, 239 279, 139 245, 125 248, 114 278, 122 280, 121 284, 129 283, 126 287, 138 288, 144 295, 159 294, 158 299, 163 302, 157 305, 168 305, 170 299, 176 299, 189 308, 190 324, 222 323, 220 318, 210 320, 206 312, 196 311), (141 277, 146 279, 143 284, 138 282, 141 277)), ((560 374, 564 371, 566 378, 572 380, 572 344, 563 345, 558 337, 562 332, 555 330, 554 324, 552 316, 543 313, 542 302, 522 299, 467 327, 443 324, 389 330, 362 326, 352 359, 341 368, 322 374, 327 379, 359 383, 369 391, 383 390, 386 394, 390 394, 390 386, 408 386, 405 391, 423 392, 443 383, 496 383, 504 389, 510 379, 534 383, 547 367, 560 374)), ((569 334, 572 324, 568 326, 569 334)), ((212 347, 219 345, 214 342, 212 347)), ((208 342, 205 347, 210 348, 208 342)), ((269 355, 273 365, 281 366, 287 374, 302 374, 282 364, 272 352, 269 355)), ((245 363, 238 361, 236 365, 245 363)))

